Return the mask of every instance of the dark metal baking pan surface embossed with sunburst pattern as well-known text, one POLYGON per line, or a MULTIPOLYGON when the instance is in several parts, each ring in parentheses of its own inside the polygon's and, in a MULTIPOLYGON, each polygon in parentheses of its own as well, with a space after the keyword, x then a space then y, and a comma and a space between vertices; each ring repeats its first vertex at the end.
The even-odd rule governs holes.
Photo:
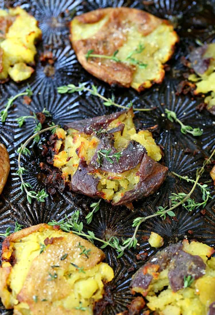
MULTIPOLYGON (((181 181, 171 175, 171 171, 180 175, 188 175, 195 178, 196 169, 202 165, 204 158, 208 156, 214 148, 215 119, 206 111, 201 113, 196 111, 196 106, 201 102, 201 98, 192 99, 191 95, 176 96, 177 85, 182 79, 183 65, 180 58, 188 54, 189 45, 196 45, 196 38, 214 41, 214 34, 210 27, 204 26, 204 21, 210 25, 213 12, 205 16, 203 9, 211 8, 210 3, 202 6, 200 1, 175 1, 175 0, 156 0, 154 4, 144 1, 131 0, 31 0, 31 1, 5 1, 0 0, 0 7, 9 4, 21 5, 23 8, 32 12, 39 21, 39 26, 43 31, 43 41, 38 45, 38 55, 36 57, 36 68, 32 77, 24 83, 15 84, 8 82, 0 85, 0 110, 11 95, 15 95, 26 89, 27 83, 31 85, 33 95, 29 105, 23 104, 22 98, 14 102, 14 106, 9 110, 9 115, 4 124, 0 122, 0 142, 3 142, 10 153, 11 173, 9 180, 0 197, 0 232, 5 232, 8 226, 14 231, 15 221, 23 226, 30 226, 40 222, 49 222, 52 219, 61 220, 64 215, 70 215, 74 210, 80 211, 80 219, 84 223, 84 231, 91 230, 99 238, 105 239, 109 236, 117 236, 119 239, 128 238, 133 235, 134 228, 131 227, 135 217, 153 214, 157 207, 169 204, 171 192, 188 192, 192 185, 181 181), (5 3, 5 4, 4 4, 5 3), (145 9, 159 17, 166 18, 175 23, 179 35, 186 36, 181 38, 177 50, 170 60, 170 71, 166 71, 164 82, 155 85, 148 91, 138 94, 131 89, 120 89, 109 87, 87 73, 77 61, 73 49, 70 46, 67 28, 68 21, 74 14, 82 14, 89 10, 107 6, 131 6, 145 9), (193 16, 198 17, 202 24, 194 25, 191 31, 185 32, 184 21, 190 25, 193 16), (188 19, 189 18, 189 19, 188 19), (204 20, 205 19, 205 20, 204 20), (190 22, 191 21, 191 22, 190 22), (49 67, 46 63, 39 60, 44 51, 51 51, 54 64, 49 67), (47 67, 48 66, 48 67, 47 67), (86 196, 77 195, 72 192, 57 192, 53 197, 48 197, 44 203, 32 201, 29 205, 26 195, 20 190, 20 179, 15 174, 17 170, 16 150, 27 137, 32 134, 35 122, 27 121, 21 128, 15 122, 15 118, 29 115, 31 112, 40 112, 44 107, 49 110, 55 123, 62 126, 71 120, 95 117, 98 115, 115 112, 118 109, 111 106, 104 106, 103 101, 86 92, 79 92, 68 95, 60 95, 56 87, 79 82, 87 82, 98 86, 101 95, 112 97, 115 95, 116 103, 126 106, 130 101, 135 107, 154 108, 152 112, 136 112, 135 124, 137 128, 144 129, 155 124, 159 125, 159 132, 154 134, 156 142, 164 148, 162 163, 169 167, 169 174, 163 186, 151 197, 142 199, 134 203, 135 211, 124 207, 112 207, 110 203, 102 201, 101 208, 94 215, 90 225, 86 224, 85 216, 91 211, 90 204, 94 201, 86 196), (171 123, 165 113, 165 108, 176 112, 177 117, 184 123, 192 127, 201 127, 203 135, 193 137, 192 135, 182 135, 180 126, 171 123), (189 148, 190 152, 186 152, 189 148), (192 154, 193 152, 197 154, 192 154)), ((214 1, 211 2, 214 5, 214 1)), ((187 28, 186 28, 187 30, 187 28)), ((42 136, 45 139, 45 136, 42 136)), ((44 184, 45 174, 39 167, 41 160, 41 150, 30 146, 31 156, 22 157, 21 163, 27 169, 24 180, 29 182, 34 190, 48 187, 44 184)), ((203 182, 209 181, 208 170, 202 176, 203 182)), ((209 183, 211 185, 211 182, 209 183)), ((213 189, 213 186, 211 186, 213 189)), ((199 200, 200 191, 196 189, 193 198, 199 200)), ((204 209, 187 212, 179 207, 174 219, 167 218, 162 220, 157 217, 142 223, 137 234, 137 248, 126 250, 124 256, 117 259, 117 252, 111 248, 105 248, 106 261, 113 267, 115 278, 110 284, 110 303, 107 304, 103 314, 115 315, 126 309, 126 305, 131 302, 132 295, 129 283, 132 274, 153 255, 157 249, 152 248, 148 243, 148 236, 151 231, 159 233, 164 238, 164 245, 177 242, 186 236, 189 239, 197 239, 215 245, 215 200, 211 200, 204 209)), ((3 238, 1 238, 3 240, 3 238)), ((100 243, 96 243, 101 246, 100 243)), ((9 315, 11 312, 4 310, 0 305, 0 313, 9 315)))

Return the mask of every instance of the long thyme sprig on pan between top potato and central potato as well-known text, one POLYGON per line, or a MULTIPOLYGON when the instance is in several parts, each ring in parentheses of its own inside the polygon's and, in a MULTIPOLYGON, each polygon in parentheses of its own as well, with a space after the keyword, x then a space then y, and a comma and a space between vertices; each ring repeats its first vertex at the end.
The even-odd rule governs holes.
MULTIPOLYGON (((128 109, 132 106, 131 102, 128 104, 128 106, 122 106, 122 105, 119 105, 117 103, 115 103, 115 100, 114 100, 114 96, 112 95, 112 99, 110 98, 106 98, 104 96, 102 96, 101 94, 98 93, 98 89, 97 87, 92 84, 92 89, 89 89, 85 86, 86 83, 79 83, 78 86, 75 86, 74 84, 68 84, 68 85, 62 85, 62 86, 59 86, 57 88, 57 91, 58 93, 60 94, 64 94, 64 93, 74 93, 74 92, 80 92, 80 91, 88 91, 90 92, 91 95, 94 95, 94 96, 98 96, 99 98, 101 98, 102 100, 104 100, 103 104, 105 106, 116 106, 116 107, 119 107, 119 108, 123 108, 123 109, 128 109)), ((139 111, 139 112, 148 112, 148 111, 153 111, 154 108, 133 108, 134 111, 139 111)))

